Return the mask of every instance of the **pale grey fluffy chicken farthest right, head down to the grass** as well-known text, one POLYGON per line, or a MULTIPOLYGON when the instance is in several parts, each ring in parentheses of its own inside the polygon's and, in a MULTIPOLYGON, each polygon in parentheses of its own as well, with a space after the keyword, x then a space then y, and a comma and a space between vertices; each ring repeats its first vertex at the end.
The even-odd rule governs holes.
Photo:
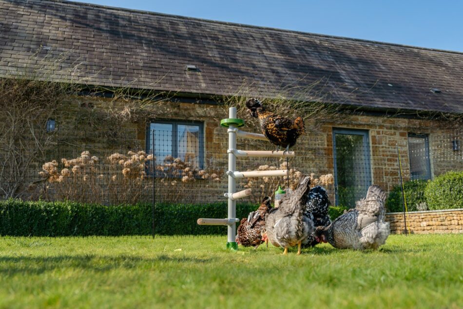
POLYGON ((384 221, 386 192, 370 185, 367 197, 356 202, 328 227, 317 227, 315 236, 339 249, 378 249, 389 236, 389 223, 384 221))

